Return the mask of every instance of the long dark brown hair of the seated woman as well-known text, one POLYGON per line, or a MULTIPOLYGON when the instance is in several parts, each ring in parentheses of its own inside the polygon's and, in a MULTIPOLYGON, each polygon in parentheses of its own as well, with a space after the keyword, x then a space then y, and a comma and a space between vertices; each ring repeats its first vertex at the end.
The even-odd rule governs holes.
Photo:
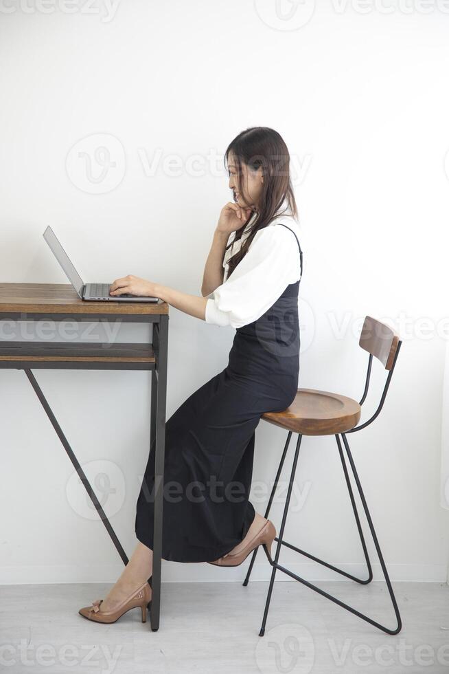
MULTIPOLYGON (((229 153, 235 157, 237 164, 238 191, 242 196, 245 191, 242 190, 242 164, 246 164, 252 171, 262 166, 264 182, 262 194, 260 196, 260 208, 254 218, 249 235, 246 237, 238 252, 229 258, 228 276, 231 276, 233 270, 248 252, 248 248, 253 241, 256 232, 266 227, 277 215, 282 215, 290 210, 290 215, 297 217, 297 205, 295 195, 293 194, 292 182, 290 180, 290 154, 287 146, 281 138, 281 135, 269 127, 250 127, 245 129, 234 140, 229 143, 225 152, 225 168, 228 171, 227 164, 229 153), (286 210, 279 211, 284 201, 287 202, 286 210)), ((241 239, 246 224, 253 217, 255 211, 251 211, 248 219, 240 229, 235 232, 235 237, 229 243, 232 246, 234 241, 241 239)))

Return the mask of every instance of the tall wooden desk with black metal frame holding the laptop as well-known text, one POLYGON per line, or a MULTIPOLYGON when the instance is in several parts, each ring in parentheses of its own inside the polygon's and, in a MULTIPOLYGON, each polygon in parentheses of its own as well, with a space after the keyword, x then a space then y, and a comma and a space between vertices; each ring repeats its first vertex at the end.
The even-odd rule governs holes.
POLYGON ((109 523, 56 417, 34 378, 32 369, 149 370, 151 372, 150 443, 155 440, 154 550, 150 580, 151 629, 159 629, 161 600, 161 552, 163 515, 163 468, 165 452, 165 398, 167 391, 168 304, 82 301, 71 285, 46 283, 0 283, 0 320, 71 320, 108 323, 152 323, 148 344, 73 341, 35 342, 0 338, 0 368, 24 370, 54 426, 69 459, 78 472, 108 534, 126 565, 122 545, 109 523))

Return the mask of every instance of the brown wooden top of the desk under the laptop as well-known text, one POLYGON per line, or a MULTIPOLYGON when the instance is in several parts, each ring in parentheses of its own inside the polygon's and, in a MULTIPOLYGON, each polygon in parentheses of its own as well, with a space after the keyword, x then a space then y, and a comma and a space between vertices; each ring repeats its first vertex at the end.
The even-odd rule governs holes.
POLYGON ((0 315, 34 314, 168 314, 168 304, 158 302, 87 302, 68 283, 0 283, 0 315))

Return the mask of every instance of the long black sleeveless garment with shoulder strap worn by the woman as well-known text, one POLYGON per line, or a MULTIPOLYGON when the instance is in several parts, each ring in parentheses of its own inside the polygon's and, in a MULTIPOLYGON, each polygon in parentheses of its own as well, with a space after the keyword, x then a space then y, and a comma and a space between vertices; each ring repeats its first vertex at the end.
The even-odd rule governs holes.
MULTIPOLYGON (((284 226, 281 223, 274 226, 284 226)), ((299 246, 302 276, 302 250, 299 246)), ((299 279, 301 280, 301 279, 299 279)), ((295 399, 299 376, 299 281, 257 320, 235 331, 227 367, 165 424, 162 557, 214 561, 244 539, 255 428, 295 399)), ((137 539, 153 549, 154 442, 137 499, 137 539)))

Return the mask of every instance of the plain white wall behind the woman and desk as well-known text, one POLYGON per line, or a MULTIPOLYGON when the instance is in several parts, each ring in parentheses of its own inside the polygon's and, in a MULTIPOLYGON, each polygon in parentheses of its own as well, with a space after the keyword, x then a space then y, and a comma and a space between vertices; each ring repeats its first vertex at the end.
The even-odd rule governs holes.
MULTIPOLYGON (((200 294, 230 198, 222 153, 248 126, 277 129, 292 155, 303 228, 299 385, 359 399, 367 367, 358 347, 362 319, 370 314, 400 331, 384 409, 348 439, 391 578, 446 580, 448 511, 439 507, 449 215, 444 3, 309 0, 289 20, 259 0, 68 7, 62 0, 1 5, 0 280, 65 283, 42 239, 50 224, 85 281, 132 273, 200 294), (92 160, 98 146, 115 166, 106 161, 103 174, 94 162, 87 174, 85 157, 92 160), (178 157, 179 175, 164 166, 169 155, 178 157)), ((94 328, 78 338, 104 339, 94 328)), ((148 329, 128 325, 118 338, 143 341, 148 329)), ((168 415, 225 367, 232 338, 233 329, 171 310, 168 415)), ((130 554, 148 456, 148 373, 35 374, 98 494, 110 491, 103 475, 115 490, 104 507, 130 554)), ((385 375, 374 362, 362 421, 385 375)), ((119 557, 83 492, 72 490, 69 459, 25 374, 2 370, 0 380, 0 583, 115 580, 119 557)), ((262 422, 256 441, 254 484, 273 479, 284 433, 262 422)), ((333 437, 303 439, 297 490, 304 503, 290 513, 286 540, 361 573, 333 437)), ((252 500, 263 513, 264 502, 252 500)), ((272 519, 279 530, 281 504, 272 519)), ((369 550, 380 578, 371 541, 369 550)), ((257 561, 253 577, 268 578, 262 552, 257 561)), ((288 550, 281 561, 308 578, 335 577, 288 550)), ((238 578, 241 568, 223 574, 163 562, 163 580, 238 578)))

